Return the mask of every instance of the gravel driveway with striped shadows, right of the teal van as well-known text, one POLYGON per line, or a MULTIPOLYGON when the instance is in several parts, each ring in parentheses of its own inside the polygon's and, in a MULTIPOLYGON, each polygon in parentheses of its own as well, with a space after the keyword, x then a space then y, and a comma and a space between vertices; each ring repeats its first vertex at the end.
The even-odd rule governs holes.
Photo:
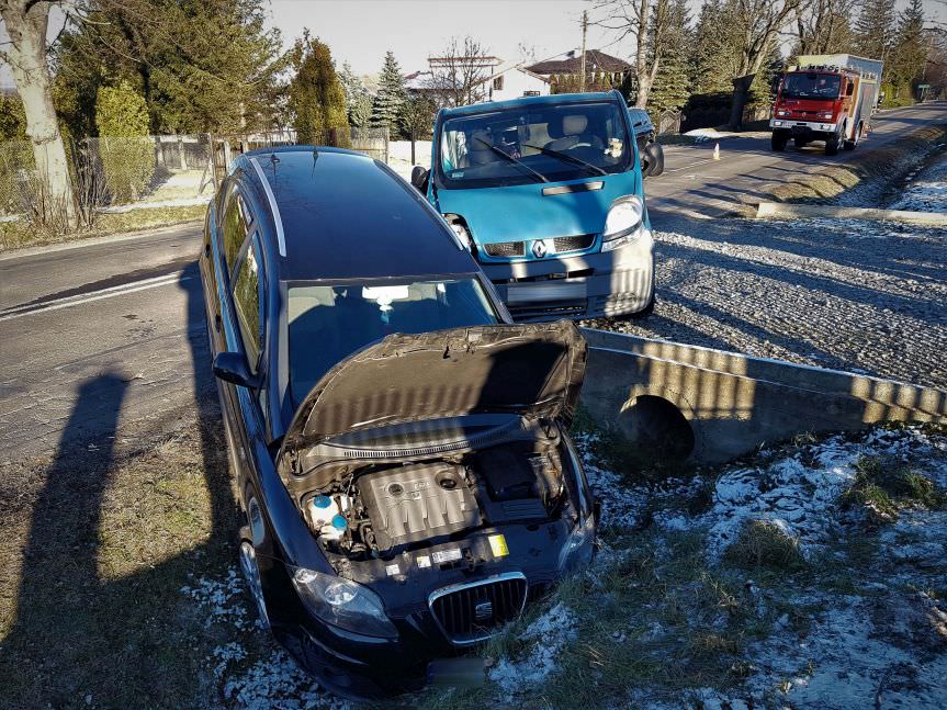
POLYGON ((947 229, 652 221, 654 314, 583 325, 947 388, 947 229))

